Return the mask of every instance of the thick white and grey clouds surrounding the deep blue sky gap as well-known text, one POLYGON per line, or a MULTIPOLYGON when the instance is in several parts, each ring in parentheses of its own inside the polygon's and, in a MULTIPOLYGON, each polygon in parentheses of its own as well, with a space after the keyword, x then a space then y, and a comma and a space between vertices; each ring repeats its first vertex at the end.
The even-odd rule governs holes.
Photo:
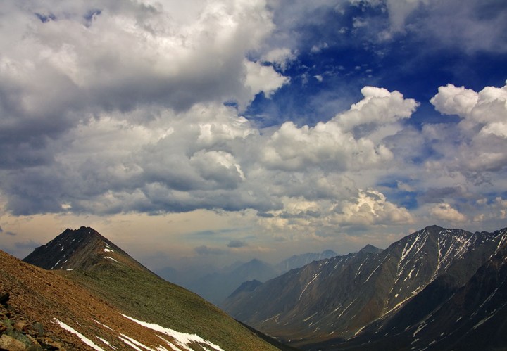
MULTIPOLYGON (((332 46, 304 40, 301 27, 315 20, 305 11, 359 11, 349 27, 330 30, 349 39, 376 31, 375 43, 365 45, 378 45, 411 31, 432 35, 425 19, 441 23, 449 4, 458 5, 393 4, 7 1, 0 13, 9 29, 0 37, 2 213, 253 210, 260 233, 318 240, 434 222, 500 226, 507 87, 434 87, 438 122, 412 122, 427 101, 368 84, 348 108, 330 110, 334 101, 325 101, 331 117, 320 122, 286 116, 260 127, 249 118, 256 98, 296 84, 289 72, 301 64, 301 50, 314 55, 332 46), (382 18, 373 15, 379 6, 387 11, 382 18)), ((507 50, 458 31, 473 22, 498 38, 490 27, 505 27, 500 15, 487 23, 469 7, 459 11, 464 17, 453 19, 442 42, 507 50)), ((315 84, 332 74, 316 75, 315 84)), ((250 247, 243 238, 227 243, 250 247)), ((196 253, 223 250, 201 245, 196 253)))

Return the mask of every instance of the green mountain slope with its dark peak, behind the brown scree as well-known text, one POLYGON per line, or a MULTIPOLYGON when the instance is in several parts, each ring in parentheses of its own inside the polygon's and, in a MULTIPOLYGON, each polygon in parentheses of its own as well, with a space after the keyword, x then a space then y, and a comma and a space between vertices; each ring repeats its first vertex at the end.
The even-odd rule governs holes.
POLYGON ((132 319, 196 334, 223 350, 276 350, 198 295, 151 273, 94 229, 67 229, 25 261, 58 269, 51 273, 77 283, 132 319))

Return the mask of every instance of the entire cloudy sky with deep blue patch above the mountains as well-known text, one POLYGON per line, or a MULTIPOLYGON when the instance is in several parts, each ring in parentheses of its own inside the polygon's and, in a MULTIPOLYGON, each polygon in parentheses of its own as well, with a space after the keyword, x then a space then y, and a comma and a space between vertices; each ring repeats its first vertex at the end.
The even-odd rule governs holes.
POLYGON ((0 249, 151 269, 507 226, 504 0, 4 0, 0 249))

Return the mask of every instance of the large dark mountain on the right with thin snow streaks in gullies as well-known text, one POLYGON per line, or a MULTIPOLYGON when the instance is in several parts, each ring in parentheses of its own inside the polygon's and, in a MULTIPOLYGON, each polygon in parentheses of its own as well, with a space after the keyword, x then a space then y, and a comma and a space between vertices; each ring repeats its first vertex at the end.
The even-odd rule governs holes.
POLYGON ((468 338, 475 345, 505 346, 498 326, 495 338, 476 331, 507 317, 499 276, 506 269, 506 241, 507 229, 470 233, 428 226, 382 252, 365 248, 294 269, 231 296, 224 307, 308 350, 418 350, 430 344, 441 350, 469 345, 468 338), (483 292, 474 298, 475 289, 483 292), (475 314, 465 312, 470 307, 475 314), (463 324, 459 332, 457 323, 463 324))

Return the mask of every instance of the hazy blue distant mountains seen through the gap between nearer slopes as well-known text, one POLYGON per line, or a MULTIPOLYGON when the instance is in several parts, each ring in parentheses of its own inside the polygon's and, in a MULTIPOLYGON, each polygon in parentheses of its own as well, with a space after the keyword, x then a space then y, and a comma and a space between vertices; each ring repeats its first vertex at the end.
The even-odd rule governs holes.
POLYGON ((237 262, 231 267, 225 267, 218 272, 195 276, 194 279, 187 279, 190 276, 189 274, 178 273, 170 267, 161 269, 156 273, 168 281, 178 283, 190 291, 199 294, 209 302, 221 306, 225 298, 244 281, 268 281, 275 278, 275 276, 288 272, 290 269, 303 267, 310 262, 336 255, 337 253, 332 250, 325 250, 323 253, 305 253, 293 255, 275 265, 253 259, 246 263, 237 262))

